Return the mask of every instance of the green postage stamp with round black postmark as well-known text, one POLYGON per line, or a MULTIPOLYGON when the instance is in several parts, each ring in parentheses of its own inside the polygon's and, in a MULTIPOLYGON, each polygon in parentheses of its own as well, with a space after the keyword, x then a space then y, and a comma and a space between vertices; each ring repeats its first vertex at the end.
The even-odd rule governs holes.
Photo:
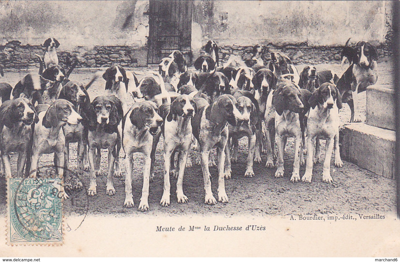
POLYGON ((10 178, 7 182, 7 243, 62 244, 60 179, 10 178))

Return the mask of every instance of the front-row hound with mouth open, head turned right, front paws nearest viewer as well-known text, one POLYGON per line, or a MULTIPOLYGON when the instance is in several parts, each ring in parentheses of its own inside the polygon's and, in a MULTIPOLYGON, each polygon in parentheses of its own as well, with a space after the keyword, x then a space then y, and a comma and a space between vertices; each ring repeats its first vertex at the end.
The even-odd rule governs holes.
MULTIPOLYGON (((125 151, 125 201, 124 207, 134 206, 132 196, 132 172, 133 172, 133 153, 143 153, 143 189, 142 197, 138 210, 147 211, 149 209, 148 195, 151 169, 154 165, 152 155, 158 141, 154 141, 154 136, 160 134, 162 118, 157 113, 158 106, 152 101, 141 101, 134 103, 124 116, 122 121, 122 146, 125 151)), ((154 169, 154 167, 153 167, 154 169)))

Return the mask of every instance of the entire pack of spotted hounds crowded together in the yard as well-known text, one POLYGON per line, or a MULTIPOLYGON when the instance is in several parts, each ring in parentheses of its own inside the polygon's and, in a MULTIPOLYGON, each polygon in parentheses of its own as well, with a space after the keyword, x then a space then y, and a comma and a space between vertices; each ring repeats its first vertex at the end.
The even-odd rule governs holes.
MULTIPOLYGON (((290 181, 311 183, 313 164, 320 160, 320 139, 326 139, 322 181, 332 183, 330 159, 334 149, 336 167, 343 163, 339 153, 339 112, 342 103, 351 109, 350 122, 360 121, 358 93, 377 81, 378 53, 370 43, 346 42, 342 62, 349 67, 338 77, 329 70, 306 66, 299 74, 288 56, 262 46, 254 47, 251 61, 231 56, 221 65, 218 46, 208 41, 194 69, 188 70, 182 53, 175 50, 163 58, 158 71, 138 81, 136 75, 114 64, 103 73, 104 95, 89 97, 86 85, 70 80, 77 62, 68 71, 58 64, 54 38, 44 42, 44 57, 37 55, 38 73, 28 73, 14 86, 0 83, 1 172, 12 177, 10 153, 18 153, 18 177, 36 177, 42 154, 54 153, 57 174, 64 183, 59 197, 82 189, 80 178, 89 171, 87 194, 97 193, 100 149, 108 149, 106 194, 114 195, 113 177, 122 175, 120 150, 124 153, 124 207, 134 206, 132 196, 133 153, 141 152, 143 189, 138 209, 149 208, 149 183, 154 177, 155 151, 164 136, 164 192, 162 206, 170 204, 170 175, 177 177, 176 199, 188 202, 183 192, 185 168, 192 167, 191 150, 201 165, 206 204, 216 204, 211 190, 209 167, 218 172, 218 201, 228 202, 225 179, 232 175, 231 163, 238 159, 238 140, 248 137, 245 177, 254 177, 253 162, 276 168, 284 175, 284 153, 288 137, 294 137, 294 163, 290 181), (129 108, 128 102, 134 103, 129 108), (78 143, 77 173, 68 172, 69 144, 78 143), (276 143, 276 149, 275 149, 276 143), (276 155, 277 152, 277 155, 276 155), (177 161, 175 163, 175 154, 177 161), (306 161, 304 161, 306 154, 306 161), (87 167, 88 163, 88 167, 87 167), (300 177, 299 168, 306 163, 300 177), (64 167, 64 168, 63 168, 64 167), (64 171, 65 170, 65 171, 64 171)), ((3 75, 3 70, 1 70, 3 75)), ((235 174, 236 175, 236 174, 235 174)))

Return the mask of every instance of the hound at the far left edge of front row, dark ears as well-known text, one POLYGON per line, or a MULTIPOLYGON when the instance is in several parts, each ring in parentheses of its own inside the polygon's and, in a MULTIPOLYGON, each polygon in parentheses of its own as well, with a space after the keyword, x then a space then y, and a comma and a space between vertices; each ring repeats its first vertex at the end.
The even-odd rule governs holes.
POLYGON ((4 166, 2 174, 12 177, 10 153, 18 152, 17 177, 22 177, 27 157, 32 150, 32 129, 39 121, 32 103, 27 98, 4 101, 0 107, 0 151, 4 166))

